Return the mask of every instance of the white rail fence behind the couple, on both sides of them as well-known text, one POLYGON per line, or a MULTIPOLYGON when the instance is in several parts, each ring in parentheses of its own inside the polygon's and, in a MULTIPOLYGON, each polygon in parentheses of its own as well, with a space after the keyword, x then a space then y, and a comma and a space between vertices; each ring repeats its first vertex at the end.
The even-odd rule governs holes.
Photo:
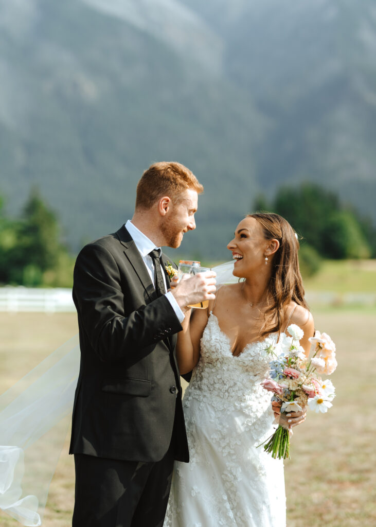
MULTIPOLYGON (((310 305, 324 306, 376 306, 376 292, 334 293, 324 291, 307 292, 310 305)), ((37 289, 28 287, 0 288, 0 311, 18 313, 35 311, 41 313, 70 313, 76 310, 72 300, 72 289, 37 289)))

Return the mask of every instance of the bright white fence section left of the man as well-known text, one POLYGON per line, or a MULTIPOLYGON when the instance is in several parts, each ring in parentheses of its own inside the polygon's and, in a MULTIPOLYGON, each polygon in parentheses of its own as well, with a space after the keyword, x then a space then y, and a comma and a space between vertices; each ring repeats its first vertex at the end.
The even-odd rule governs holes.
POLYGON ((68 313, 75 310, 72 289, 38 289, 21 286, 0 288, 0 311, 68 313))

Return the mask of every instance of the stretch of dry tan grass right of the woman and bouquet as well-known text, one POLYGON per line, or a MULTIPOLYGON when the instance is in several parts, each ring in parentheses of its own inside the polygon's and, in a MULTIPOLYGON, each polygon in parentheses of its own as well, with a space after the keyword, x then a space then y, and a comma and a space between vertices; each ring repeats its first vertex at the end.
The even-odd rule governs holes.
POLYGON ((310 414, 285 463, 289 527, 376 525, 376 313, 315 315, 337 344, 337 388, 327 414, 310 414))

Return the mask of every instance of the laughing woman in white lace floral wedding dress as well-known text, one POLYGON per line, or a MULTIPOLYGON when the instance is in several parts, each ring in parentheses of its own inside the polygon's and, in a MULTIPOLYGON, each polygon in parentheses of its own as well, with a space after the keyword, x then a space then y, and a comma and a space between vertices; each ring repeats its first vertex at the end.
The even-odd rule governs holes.
MULTIPOLYGON (((304 331, 309 353, 313 319, 304 301, 299 243, 289 223, 250 214, 227 248, 238 284, 223 285, 207 310, 187 315, 178 335, 181 374, 192 373, 183 399, 190 463, 175 462, 164 527, 282 527, 283 462, 258 447, 273 433, 268 373, 271 340, 290 323, 304 331)), ((302 413, 274 415, 291 428, 302 413)))

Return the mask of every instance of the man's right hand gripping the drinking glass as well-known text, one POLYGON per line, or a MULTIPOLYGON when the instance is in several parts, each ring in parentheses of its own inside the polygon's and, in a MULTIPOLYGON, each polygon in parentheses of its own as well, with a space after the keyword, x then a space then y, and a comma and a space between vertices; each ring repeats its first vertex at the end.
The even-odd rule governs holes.
POLYGON ((214 271, 199 272, 189 278, 183 275, 176 286, 171 284, 173 285, 171 292, 183 312, 189 309, 187 307, 189 305, 198 304, 204 300, 214 300, 215 276, 214 271))

